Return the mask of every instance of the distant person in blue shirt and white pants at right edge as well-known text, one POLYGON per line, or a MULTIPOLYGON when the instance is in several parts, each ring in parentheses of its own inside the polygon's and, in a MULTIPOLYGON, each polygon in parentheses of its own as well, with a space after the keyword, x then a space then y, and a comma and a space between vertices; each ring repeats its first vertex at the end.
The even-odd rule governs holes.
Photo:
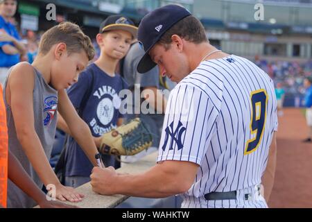
POLYGON ((311 143, 312 139, 312 76, 304 79, 304 87, 306 88, 306 96, 304 103, 306 105, 306 124, 309 126, 309 135, 304 142, 311 143))

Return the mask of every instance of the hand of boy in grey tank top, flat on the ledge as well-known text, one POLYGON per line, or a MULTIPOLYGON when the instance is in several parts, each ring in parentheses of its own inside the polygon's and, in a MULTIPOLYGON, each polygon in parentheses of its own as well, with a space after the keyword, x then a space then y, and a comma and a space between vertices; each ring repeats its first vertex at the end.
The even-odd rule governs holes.
POLYGON ((80 202, 85 197, 83 194, 79 194, 73 187, 64 187, 63 185, 58 185, 55 187, 56 198, 62 201, 70 201, 73 203, 80 202))

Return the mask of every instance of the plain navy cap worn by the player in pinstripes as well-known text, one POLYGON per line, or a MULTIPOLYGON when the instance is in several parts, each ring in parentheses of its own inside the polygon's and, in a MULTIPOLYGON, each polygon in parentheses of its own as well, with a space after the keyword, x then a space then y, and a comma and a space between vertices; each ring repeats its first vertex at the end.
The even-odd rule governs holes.
POLYGON ((157 8, 144 16, 137 33, 139 43, 145 51, 137 66, 139 73, 144 74, 157 65, 148 52, 169 28, 189 15, 191 12, 181 6, 168 5, 157 8))

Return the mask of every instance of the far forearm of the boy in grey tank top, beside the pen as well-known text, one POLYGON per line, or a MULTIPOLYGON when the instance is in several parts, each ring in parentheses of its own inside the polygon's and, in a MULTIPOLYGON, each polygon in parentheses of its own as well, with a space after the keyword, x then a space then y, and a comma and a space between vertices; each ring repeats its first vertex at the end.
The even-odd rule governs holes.
POLYGON ((69 130, 73 139, 76 140, 95 167, 97 165, 95 155, 98 153, 98 150, 87 123, 80 119, 77 121, 76 126, 69 126, 69 130))

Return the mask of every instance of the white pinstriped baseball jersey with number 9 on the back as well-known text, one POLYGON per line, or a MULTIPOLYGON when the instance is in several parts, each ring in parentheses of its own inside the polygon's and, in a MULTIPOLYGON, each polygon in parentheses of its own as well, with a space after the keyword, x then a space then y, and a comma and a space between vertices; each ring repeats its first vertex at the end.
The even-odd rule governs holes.
POLYGON ((201 62, 175 86, 157 161, 200 165, 182 207, 207 207, 207 193, 261 184, 278 125, 274 90, 264 71, 234 55, 201 62))

